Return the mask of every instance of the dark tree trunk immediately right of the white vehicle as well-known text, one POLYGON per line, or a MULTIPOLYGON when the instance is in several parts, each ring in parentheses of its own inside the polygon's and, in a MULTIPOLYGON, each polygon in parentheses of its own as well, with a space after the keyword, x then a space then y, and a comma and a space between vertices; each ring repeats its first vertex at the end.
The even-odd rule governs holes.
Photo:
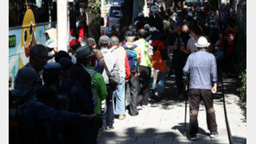
POLYGON ((132 22, 131 11, 133 11, 133 1, 134 0, 125 0, 124 6, 122 7, 123 18, 121 19, 120 28, 119 28, 120 34, 121 34, 121 39, 123 39, 125 30, 128 29, 129 25, 132 22))

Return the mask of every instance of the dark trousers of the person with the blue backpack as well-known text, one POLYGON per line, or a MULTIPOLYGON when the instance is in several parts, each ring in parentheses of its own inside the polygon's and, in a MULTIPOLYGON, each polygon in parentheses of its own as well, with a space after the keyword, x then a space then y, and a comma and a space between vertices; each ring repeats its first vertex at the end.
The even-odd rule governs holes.
POLYGON ((130 78, 130 115, 134 116, 138 114, 137 109, 137 97, 138 97, 138 90, 139 90, 139 82, 138 82, 138 76, 131 77, 130 78))

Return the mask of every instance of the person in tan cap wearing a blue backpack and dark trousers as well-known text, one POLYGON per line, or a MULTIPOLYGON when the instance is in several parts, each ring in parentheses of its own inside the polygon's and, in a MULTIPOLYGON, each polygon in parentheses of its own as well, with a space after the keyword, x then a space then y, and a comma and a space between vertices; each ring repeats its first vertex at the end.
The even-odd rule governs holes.
POLYGON ((126 43, 121 45, 120 48, 124 49, 127 54, 127 58, 130 66, 130 78, 128 81, 129 92, 130 92, 130 104, 129 104, 129 114, 131 116, 138 116, 137 108, 137 97, 139 91, 139 81, 138 81, 138 64, 141 58, 141 51, 139 47, 133 44, 135 39, 135 34, 132 30, 125 31, 126 43))

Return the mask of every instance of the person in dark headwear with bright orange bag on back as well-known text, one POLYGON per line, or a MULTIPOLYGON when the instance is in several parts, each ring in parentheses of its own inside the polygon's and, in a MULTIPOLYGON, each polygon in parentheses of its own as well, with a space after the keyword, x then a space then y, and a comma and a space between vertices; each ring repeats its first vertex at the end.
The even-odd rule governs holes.
POLYGON ((153 59, 151 59, 152 66, 155 70, 159 70, 157 74, 157 85, 153 90, 152 96, 155 96, 157 100, 160 100, 160 97, 163 96, 165 90, 166 76, 165 72, 167 71, 166 59, 167 51, 166 47, 162 41, 162 35, 158 31, 154 31, 151 37, 151 46, 153 48, 153 59))

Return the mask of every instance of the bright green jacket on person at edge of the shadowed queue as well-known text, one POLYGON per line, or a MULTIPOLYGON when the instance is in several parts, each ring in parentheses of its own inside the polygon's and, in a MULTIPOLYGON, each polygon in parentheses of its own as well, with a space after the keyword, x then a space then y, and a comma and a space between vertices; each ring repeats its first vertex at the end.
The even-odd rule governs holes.
MULTIPOLYGON (((90 74, 95 71, 93 66, 87 66, 86 67, 87 72, 90 74)), ((97 97, 97 104, 94 109, 95 113, 101 113, 101 102, 106 98, 107 96, 107 91, 106 91, 106 84, 104 81, 104 78, 99 72, 96 72, 93 74, 92 77, 93 85, 94 85, 94 97, 97 97)))

